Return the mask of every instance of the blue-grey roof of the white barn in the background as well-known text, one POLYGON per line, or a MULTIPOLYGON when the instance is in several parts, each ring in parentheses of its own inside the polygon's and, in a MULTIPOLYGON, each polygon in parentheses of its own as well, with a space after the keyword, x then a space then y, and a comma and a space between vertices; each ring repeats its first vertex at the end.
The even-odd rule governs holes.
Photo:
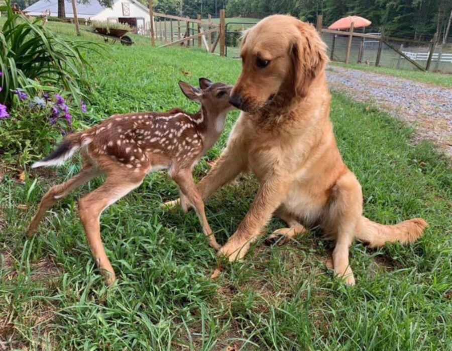
MULTIPOLYGON (((122 0, 114 0, 113 3, 117 3, 122 0)), ((135 0, 129 0, 130 2, 134 3, 135 5, 139 6, 145 11, 148 11, 148 9, 140 4, 139 2, 135 0)), ((70 0, 66 0, 64 4, 64 10, 66 12, 66 17, 74 17, 74 14, 72 12, 72 4, 70 0)), ((99 12, 104 10, 105 8, 102 7, 102 5, 99 4, 97 0, 91 0, 87 4, 79 4, 77 3, 77 16, 80 18, 88 18, 97 15, 99 12)), ((33 5, 29 6, 24 10, 24 12, 31 13, 31 14, 42 14, 44 11, 50 10, 51 16, 57 16, 58 15, 58 0, 39 0, 37 3, 34 3, 33 5)))

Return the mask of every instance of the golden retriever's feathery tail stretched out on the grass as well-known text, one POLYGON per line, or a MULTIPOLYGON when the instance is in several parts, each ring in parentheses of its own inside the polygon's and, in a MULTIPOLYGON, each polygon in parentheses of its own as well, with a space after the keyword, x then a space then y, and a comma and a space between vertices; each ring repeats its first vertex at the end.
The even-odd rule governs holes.
POLYGON ((384 246, 386 242, 407 244, 416 241, 427 226, 422 218, 412 218, 395 225, 384 225, 361 216, 356 227, 356 238, 370 247, 384 246))

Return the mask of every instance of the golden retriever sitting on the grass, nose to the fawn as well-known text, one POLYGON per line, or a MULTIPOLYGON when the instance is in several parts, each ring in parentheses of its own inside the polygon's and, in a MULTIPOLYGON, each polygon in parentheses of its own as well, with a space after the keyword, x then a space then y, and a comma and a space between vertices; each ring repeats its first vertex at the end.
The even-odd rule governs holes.
POLYGON ((198 189, 206 199, 248 169, 260 189, 218 253, 242 258, 273 214, 287 223, 272 234, 283 236, 282 242, 304 233, 301 223, 318 224, 335 240, 335 275, 353 285, 354 238, 371 247, 413 242, 427 223, 414 218, 383 225, 363 216, 360 183, 342 160, 329 119, 326 45, 313 26, 290 16, 267 17, 245 34, 241 57, 230 102, 243 112, 198 189))

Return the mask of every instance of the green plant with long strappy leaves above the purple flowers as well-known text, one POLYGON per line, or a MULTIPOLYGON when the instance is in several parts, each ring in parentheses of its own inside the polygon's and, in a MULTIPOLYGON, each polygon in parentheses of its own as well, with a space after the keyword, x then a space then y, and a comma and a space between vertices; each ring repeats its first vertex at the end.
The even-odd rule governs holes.
POLYGON ((86 84, 83 66, 87 62, 81 50, 92 44, 58 38, 43 27, 42 19, 31 21, 14 14, 11 0, 5 3, 0 7, 6 13, 0 33, 0 103, 11 106, 17 89, 36 95, 42 90, 59 91, 61 86, 78 102, 86 84))

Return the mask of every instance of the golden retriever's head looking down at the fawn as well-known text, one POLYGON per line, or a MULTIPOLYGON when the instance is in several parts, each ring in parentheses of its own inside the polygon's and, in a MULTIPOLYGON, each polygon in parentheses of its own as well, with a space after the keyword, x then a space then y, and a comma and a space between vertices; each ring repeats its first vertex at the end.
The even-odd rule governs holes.
POLYGON ((242 73, 230 102, 247 112, 276 103, 280 96, 305 97, 328 61, 315 28, 283 15, 267 17, 248 30, 241 57, 242 73))

